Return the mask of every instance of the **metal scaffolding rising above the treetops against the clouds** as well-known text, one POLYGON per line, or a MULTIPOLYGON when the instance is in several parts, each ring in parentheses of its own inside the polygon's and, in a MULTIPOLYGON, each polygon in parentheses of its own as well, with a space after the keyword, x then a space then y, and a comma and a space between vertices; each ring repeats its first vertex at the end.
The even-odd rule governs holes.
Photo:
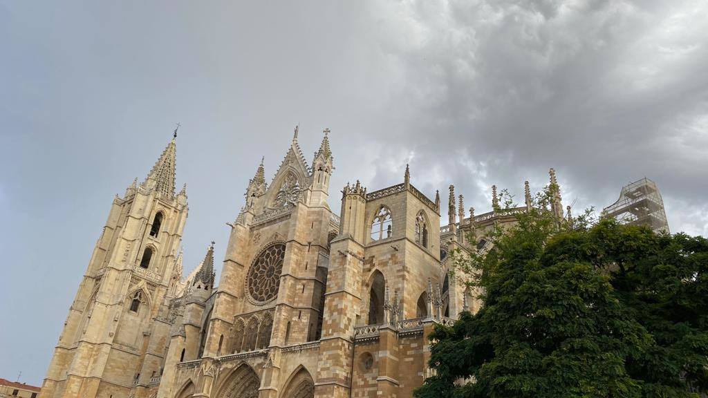
POLYGON ((669 233, 661 193, 656 183, 646 177, 623 186, 617 202, 605 207, 602 216, 614 217, 622 224, 646 225, 656 233, 669 233))

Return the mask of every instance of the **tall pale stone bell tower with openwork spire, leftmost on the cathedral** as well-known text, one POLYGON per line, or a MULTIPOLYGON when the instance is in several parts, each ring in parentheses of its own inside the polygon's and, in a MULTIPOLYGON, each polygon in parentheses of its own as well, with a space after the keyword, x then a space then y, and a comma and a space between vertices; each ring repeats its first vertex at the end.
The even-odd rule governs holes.
POLYGON ((186 186, 175 193, 176 136, 113 199, 40 397, 127 397, 159 375, 188 213, 186 186))

